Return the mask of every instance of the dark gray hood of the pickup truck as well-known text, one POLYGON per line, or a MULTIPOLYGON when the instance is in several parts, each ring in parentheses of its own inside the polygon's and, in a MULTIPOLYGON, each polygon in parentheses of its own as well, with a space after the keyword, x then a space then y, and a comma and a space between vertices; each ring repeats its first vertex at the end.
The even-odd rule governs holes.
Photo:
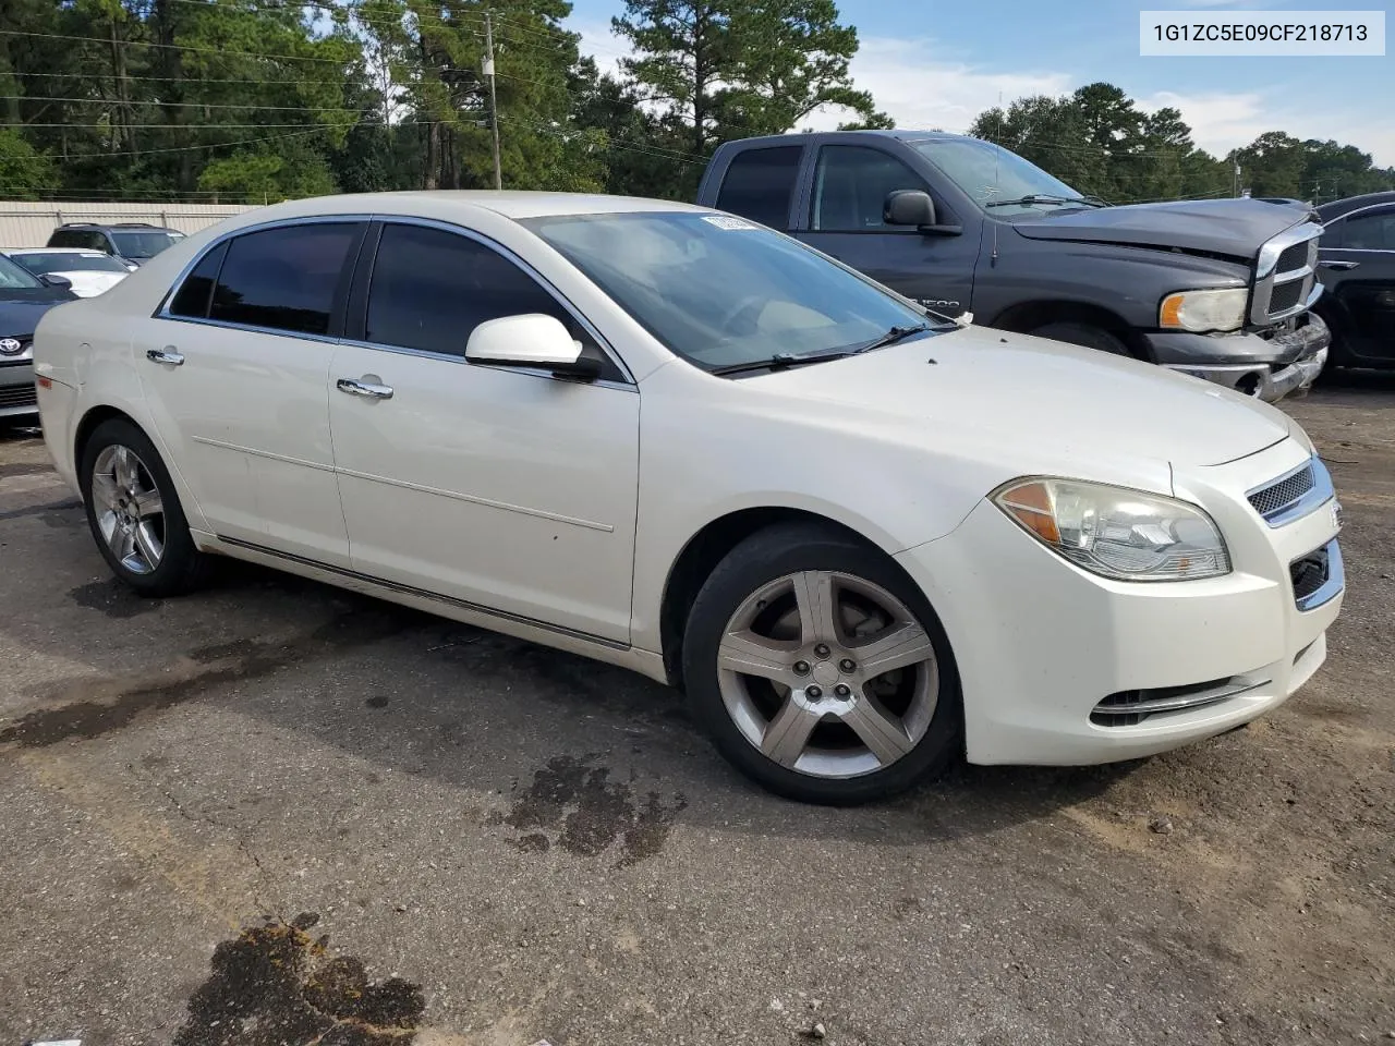
POLYGON ((1297 201, 1194 199, 1066 211, 1011 225, 1018 236, 1030 240, 1180 247, 1251 261, 1260 244, 1307 220, 1311 213, 1311 208, 1297 201))

